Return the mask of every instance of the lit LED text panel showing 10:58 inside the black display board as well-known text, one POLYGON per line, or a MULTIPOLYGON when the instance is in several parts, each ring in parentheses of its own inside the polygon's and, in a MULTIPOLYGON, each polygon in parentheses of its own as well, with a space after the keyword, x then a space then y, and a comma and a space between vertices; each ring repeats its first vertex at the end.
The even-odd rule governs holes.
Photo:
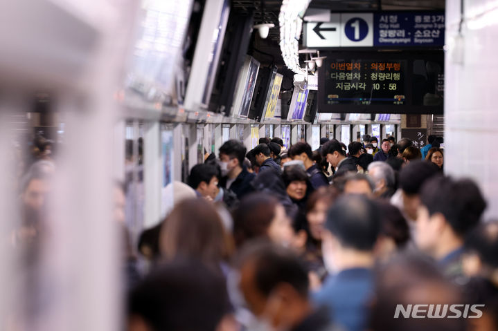
POLYGON ((336 60, 328 62, 327 104, 396 104, 406 101, 405 60, 336 60))

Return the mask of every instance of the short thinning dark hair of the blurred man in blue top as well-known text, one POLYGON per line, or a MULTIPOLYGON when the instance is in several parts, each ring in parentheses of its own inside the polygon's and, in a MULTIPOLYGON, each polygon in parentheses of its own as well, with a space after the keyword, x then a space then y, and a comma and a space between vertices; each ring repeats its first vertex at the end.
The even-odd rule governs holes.
POLYGON ((380 234, 378 207, 363 195, 341 196, 328 211, 326 228, 344 247, 371 251, 380 234))

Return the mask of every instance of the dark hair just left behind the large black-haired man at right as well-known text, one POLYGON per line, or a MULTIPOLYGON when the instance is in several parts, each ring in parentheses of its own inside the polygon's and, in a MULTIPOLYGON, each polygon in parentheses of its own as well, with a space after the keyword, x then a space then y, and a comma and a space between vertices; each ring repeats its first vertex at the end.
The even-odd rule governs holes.
POLYGON ((400 172, 400 187, 407 194, 417 194, 423 183, 436 175, 439 168, 432 162, 412 161, 400 172))

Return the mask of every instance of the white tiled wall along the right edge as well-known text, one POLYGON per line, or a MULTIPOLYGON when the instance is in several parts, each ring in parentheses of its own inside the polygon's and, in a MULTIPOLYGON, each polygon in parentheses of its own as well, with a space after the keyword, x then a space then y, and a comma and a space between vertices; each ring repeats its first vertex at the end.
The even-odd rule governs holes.
POLYGON ((445 172, 479 182, 498 217, 498 1, 446 1, 445 172))

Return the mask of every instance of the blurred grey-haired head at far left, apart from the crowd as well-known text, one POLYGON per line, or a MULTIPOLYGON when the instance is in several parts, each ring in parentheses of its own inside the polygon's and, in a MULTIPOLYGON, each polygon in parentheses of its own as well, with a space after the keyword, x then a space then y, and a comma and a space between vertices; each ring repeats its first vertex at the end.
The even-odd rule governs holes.
POLYGON ((31 167, 21 180, 21 199, 24 205, 40 210, 46 205, 46 198, 51 192, 52 173, 42 167, 31 167))

